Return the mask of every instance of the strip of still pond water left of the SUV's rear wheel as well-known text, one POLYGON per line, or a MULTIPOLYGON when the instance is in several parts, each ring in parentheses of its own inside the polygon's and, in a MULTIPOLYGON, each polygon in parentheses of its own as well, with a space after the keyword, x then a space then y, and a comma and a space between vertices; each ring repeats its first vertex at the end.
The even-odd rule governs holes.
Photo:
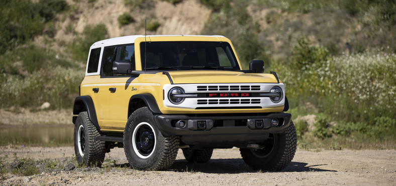
POLYGON ((12 126, 0 128, 0 144, 73 145, 74 125, 12 126))

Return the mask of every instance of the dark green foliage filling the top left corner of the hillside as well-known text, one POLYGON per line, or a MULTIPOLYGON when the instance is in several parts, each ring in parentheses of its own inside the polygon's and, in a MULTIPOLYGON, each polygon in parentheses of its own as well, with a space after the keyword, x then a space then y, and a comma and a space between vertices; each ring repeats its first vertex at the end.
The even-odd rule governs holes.
POLYGON ((0 7, 0 53, 42 34, 45 23, 68 8, 64 0, 5 1, 0 7))

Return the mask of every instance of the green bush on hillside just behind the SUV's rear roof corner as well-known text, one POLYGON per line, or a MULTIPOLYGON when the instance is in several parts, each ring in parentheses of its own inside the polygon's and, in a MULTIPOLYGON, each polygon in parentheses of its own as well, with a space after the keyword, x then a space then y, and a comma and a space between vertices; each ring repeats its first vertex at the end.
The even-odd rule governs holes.
POLYGON ((73 58, 80 62, 86 62, 91 45, 108 37, 107 28, 104 24, 85 26, 82 33, 74 38, 71 43, 70 48, 73 58))

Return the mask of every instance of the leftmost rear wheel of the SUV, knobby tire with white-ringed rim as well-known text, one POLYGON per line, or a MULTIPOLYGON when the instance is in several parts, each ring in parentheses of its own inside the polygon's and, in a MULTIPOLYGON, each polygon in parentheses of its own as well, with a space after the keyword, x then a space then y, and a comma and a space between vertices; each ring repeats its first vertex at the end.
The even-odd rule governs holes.
POLYGON ((80 112, 74 125, 74 152, 78 164, 85 166, 102 165, 105 160, 106 142, 96 141, 102 132, 89 120, 87 112, 80 112))

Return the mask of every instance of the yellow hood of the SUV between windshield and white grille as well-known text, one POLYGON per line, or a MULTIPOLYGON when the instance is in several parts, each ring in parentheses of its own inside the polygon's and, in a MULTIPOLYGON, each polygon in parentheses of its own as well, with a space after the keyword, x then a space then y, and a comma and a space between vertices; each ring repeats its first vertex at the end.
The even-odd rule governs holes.
POLYGON ((184 83, 277 83, 272 74, 235 71, 168 71, 174 84, 184 83))

